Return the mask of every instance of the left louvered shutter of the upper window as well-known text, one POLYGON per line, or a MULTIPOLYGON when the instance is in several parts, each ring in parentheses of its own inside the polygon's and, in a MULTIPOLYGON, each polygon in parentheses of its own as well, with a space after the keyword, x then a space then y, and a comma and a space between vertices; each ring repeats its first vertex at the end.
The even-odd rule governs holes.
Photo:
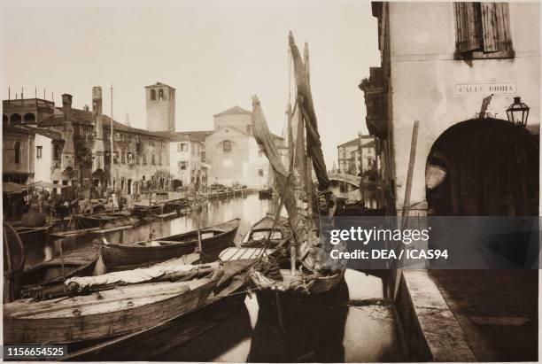
POLYGON ((476 3, 454 3, 457 51, 465 53, 481 48, 481 36, 476 27, 476 3))

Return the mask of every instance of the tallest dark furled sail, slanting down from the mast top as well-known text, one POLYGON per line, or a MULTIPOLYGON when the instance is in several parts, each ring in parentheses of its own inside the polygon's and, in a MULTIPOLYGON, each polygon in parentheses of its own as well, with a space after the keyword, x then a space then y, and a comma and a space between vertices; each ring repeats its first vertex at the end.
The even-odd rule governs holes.
POLYGON ((288 40, 296 74, 298 105, 300 106, 303 118, 305 119, 306 151, 313 160, 314 173, 318 180, 318 190, 327 190, 329 187, 328 171, 321 152, 320 134, 318 133, 318 123, 316 120, 316 112, 314 112, 313 96, 308 83, 306 66, 303 65, 298 46, 294 42, 291 32, 290 35, 288 35, 288 40))

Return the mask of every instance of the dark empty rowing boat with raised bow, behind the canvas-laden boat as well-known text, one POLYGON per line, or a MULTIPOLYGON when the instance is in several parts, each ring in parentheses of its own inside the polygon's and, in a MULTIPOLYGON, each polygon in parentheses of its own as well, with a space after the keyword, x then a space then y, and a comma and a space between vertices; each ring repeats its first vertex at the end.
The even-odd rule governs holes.
MULTIPOLYGON (((233 239, 239 228, 239 219, 223 222, 210 228, 201 229, 202 260, 214 261, 219 253, 233 246, 233 239)), ((159 263, 177 258, 196 250, 197 230, 174 236, 143 241, 136 244, 103 244, 102 259, 109 269, 129 269, 159 263)))

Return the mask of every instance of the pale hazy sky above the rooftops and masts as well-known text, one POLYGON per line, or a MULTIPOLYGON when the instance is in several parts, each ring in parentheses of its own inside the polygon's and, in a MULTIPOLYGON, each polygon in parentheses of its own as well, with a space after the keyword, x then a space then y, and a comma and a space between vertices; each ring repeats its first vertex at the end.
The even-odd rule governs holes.
POLYGON ((360 80, 380 65, 376 18, 360 0, 4 1, 0 95, 91 105, 145 128, 144 86, 176 89, 176 130, 213 128, 213 114, 257 94, 281 134, 289 97, 288 32, 310 50, 311 89, 329 169, 337 144, 367 134, 360 80), (44 4, 45 3, 45 4, 44 4))

